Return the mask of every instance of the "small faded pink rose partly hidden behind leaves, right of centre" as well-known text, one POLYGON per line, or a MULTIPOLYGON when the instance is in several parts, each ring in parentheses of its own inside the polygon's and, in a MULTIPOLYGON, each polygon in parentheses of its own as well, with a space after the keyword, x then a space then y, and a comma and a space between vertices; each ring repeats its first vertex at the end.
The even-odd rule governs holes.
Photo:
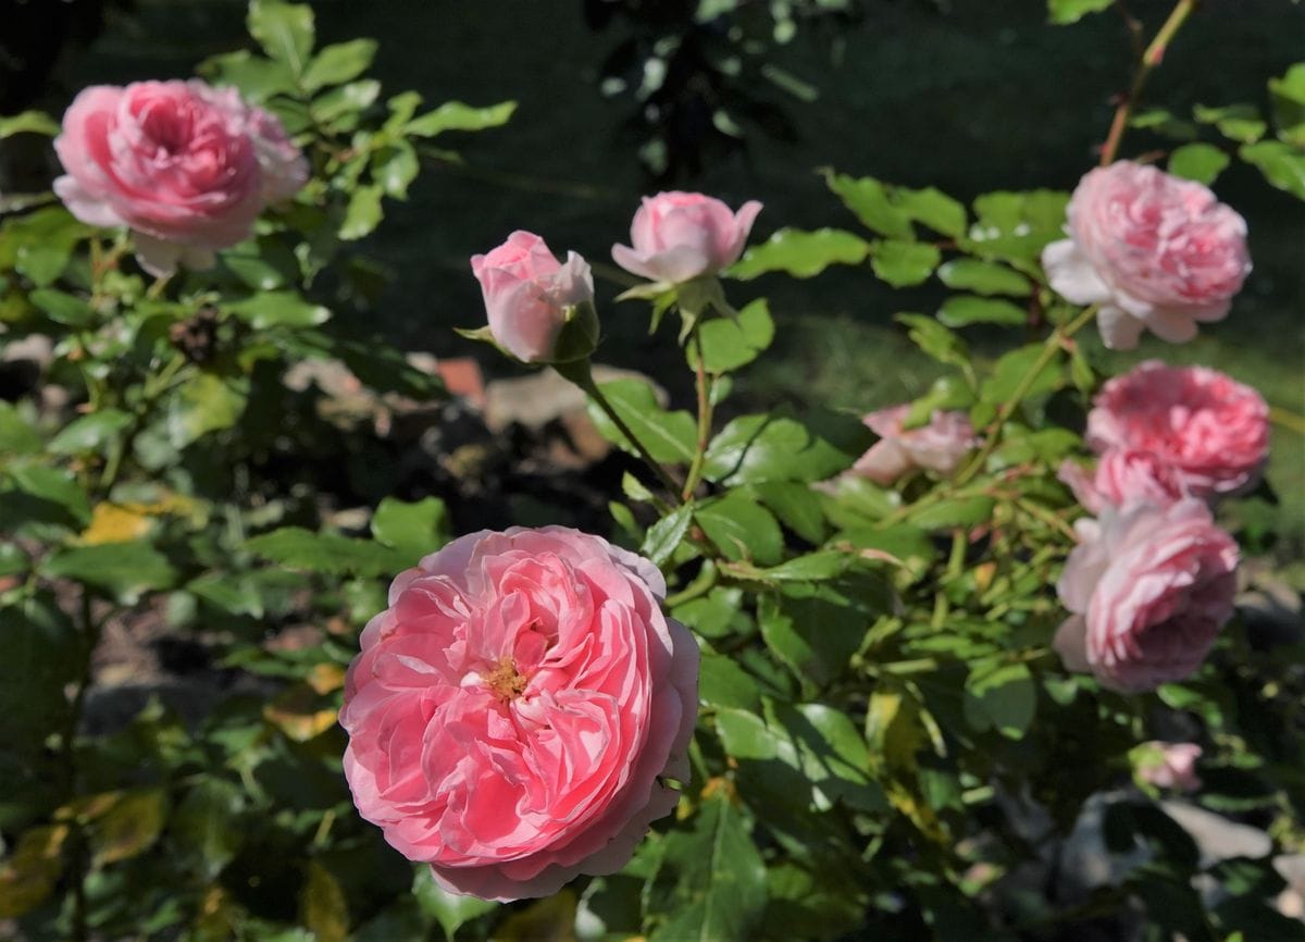
POLYGON ((974 427, 964 412, 937 411, 928 425, 906 429, 910 411, 910 403, 904 403, 865 416, 863 421, 880 440, 856 461, 853 474, 885 485, 915 468, 950 475, 977 445, 974 427))

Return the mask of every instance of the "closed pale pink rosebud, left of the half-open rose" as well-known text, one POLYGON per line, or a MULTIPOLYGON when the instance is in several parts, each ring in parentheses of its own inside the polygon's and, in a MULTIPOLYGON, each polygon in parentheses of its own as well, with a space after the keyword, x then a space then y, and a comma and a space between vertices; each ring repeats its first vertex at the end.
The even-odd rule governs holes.
POLYGON ((534 232, 518 230, 499 248, 472 256, 471 271, 480 282, 489 333, 525 363, 551 361, 576 308, 594 300, 589 262, 574 252, 559 262, 534 232))

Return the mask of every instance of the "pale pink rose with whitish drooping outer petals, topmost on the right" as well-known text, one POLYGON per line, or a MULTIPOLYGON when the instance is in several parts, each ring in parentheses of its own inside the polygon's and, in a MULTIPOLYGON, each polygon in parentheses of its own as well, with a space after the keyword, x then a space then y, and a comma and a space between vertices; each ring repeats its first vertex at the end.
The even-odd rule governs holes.
POLYGON ((1246 222, 1191 180, 1117 160, 1090 171, 1069 202, 1069 239, 1043 249, 1051 286, 1100 304, 1101 338, 1131 350, 1143 329, 1171 343, 1221 320, 1250 273, 1246 222))

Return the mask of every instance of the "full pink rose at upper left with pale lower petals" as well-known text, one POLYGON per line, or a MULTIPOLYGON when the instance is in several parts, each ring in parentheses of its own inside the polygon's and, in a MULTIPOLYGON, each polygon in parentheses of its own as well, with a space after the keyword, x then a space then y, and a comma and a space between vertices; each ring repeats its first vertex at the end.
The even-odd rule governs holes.
POLYGON ((209 267, 253 231, 265 202, 291 196, 307 164, 279 121, 204 82, 95 85, 64 115, 55 192, 91 226, 129 226, 154 275, 209 267))

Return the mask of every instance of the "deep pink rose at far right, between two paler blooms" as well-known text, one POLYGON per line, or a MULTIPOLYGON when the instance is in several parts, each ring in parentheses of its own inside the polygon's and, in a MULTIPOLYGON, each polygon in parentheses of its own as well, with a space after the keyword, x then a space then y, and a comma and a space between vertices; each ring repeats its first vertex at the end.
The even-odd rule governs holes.
POLYGON ((1107 382, 1087 416, 1096 451, 1150 451, 1197 497, 1242 493, 1268 457, 1268 406, 1207 367, 1147 360, 1107 382))

